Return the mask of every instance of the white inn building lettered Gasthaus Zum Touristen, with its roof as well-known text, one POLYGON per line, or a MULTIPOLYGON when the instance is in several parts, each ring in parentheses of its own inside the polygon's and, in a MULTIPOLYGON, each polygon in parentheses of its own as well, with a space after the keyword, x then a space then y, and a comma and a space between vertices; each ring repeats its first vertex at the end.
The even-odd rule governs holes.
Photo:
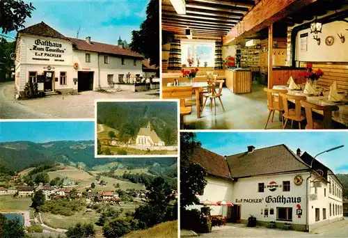
POLYGON ((45 92, 109 89, 141 76, 142 60, 123 44, 68 38, 40 22, 17 33, 15 86, 21 96, 28 81, 45 92))

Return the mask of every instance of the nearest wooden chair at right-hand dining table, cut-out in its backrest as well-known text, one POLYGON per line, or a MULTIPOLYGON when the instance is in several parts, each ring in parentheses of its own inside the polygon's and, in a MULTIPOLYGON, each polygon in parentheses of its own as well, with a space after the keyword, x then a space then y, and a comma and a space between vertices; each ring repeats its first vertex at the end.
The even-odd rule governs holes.
POLYGON ((301 101, 301 105, 306 109, 307 125, 306 129, 331 129, 332 112, 338 111, 338 106, 321 106, 311 102, 301 101), (323 120, 314 120, 313 110, 323 111, 323 120))

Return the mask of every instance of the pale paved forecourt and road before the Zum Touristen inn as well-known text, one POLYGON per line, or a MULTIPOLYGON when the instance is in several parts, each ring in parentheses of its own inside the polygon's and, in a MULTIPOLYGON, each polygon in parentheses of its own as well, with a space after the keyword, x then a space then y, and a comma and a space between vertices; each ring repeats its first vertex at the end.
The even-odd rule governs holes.
POLYGON ((157 98, 159 98, 159 90, 139 93, 85 91, 79 95, 53 95, 32 100, 16 100, 15 85, 13 81, 10 81, 0 83, 0 118, 94 118, 95 100, 157 98))

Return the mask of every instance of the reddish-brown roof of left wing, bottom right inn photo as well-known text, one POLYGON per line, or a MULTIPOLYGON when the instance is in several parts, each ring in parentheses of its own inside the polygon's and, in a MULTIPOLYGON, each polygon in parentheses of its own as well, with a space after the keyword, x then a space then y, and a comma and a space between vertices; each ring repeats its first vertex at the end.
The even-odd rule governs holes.
POLYGON ((191 159, 205 168, 209 175, 231 179, 228 165, 223 156, 206 150, 205 148, 197 148, 192 154, 191 159))

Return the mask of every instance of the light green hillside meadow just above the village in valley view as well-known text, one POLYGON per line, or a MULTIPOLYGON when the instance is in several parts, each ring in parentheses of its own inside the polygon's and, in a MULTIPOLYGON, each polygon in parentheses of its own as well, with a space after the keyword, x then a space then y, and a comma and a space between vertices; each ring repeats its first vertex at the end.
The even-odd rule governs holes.
POLYGON ((74 182, 80 182, 76 189, 84 191, 86 187, 90 187, 90 184, 95 183, 95 191, 111 191, 115 190, 113 184, 120 184, 120 189, 144 189, 141 184, 134 184, 132 182, 125 182, 122 180, 116 180, 112 177, 100 177, 100 180, 106 182, 106 186, 100 186, 96 180, 95 176, 89 175, 84 170, 79 170, 77 168, 72 168, 69 170, 56 170, 49 172, 49 179, 52 180, 54 177, 70 177, 74 182))

